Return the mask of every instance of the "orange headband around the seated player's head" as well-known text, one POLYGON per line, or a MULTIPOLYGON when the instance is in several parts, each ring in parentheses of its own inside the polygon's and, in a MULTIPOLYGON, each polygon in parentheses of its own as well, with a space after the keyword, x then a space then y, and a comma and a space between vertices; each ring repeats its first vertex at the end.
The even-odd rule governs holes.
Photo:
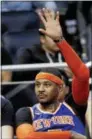
POLYGON ((36 75, 35 79, 36 80, 38 80, 38 79, 48 79, 48 80, 50 80, 54 83, 57 83, 59 85, 63 84, 63 81, 59 77, 57 77, 57 76, 55 76, 54 74, 51 74, 51 73, 40 72, 36 75))

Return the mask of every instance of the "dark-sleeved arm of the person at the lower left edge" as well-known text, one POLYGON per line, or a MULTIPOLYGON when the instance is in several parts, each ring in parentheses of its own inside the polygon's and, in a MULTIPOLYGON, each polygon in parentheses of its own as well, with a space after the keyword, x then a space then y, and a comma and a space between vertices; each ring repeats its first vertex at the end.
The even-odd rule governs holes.
POLYGON ((11 102, 0 96, 1 99, 1 138, 14 138, 14 111, 11 102))

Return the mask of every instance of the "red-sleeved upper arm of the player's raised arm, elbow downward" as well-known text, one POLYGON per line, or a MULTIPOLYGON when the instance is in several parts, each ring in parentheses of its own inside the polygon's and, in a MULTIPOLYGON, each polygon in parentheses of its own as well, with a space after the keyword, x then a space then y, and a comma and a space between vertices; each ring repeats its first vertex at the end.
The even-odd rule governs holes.
POLYGON ((73 98, 78 105, 87 104, 89 96, 89 77, 89 69, 82 63, 77 75, 73 77, 72 81, 73 98))

